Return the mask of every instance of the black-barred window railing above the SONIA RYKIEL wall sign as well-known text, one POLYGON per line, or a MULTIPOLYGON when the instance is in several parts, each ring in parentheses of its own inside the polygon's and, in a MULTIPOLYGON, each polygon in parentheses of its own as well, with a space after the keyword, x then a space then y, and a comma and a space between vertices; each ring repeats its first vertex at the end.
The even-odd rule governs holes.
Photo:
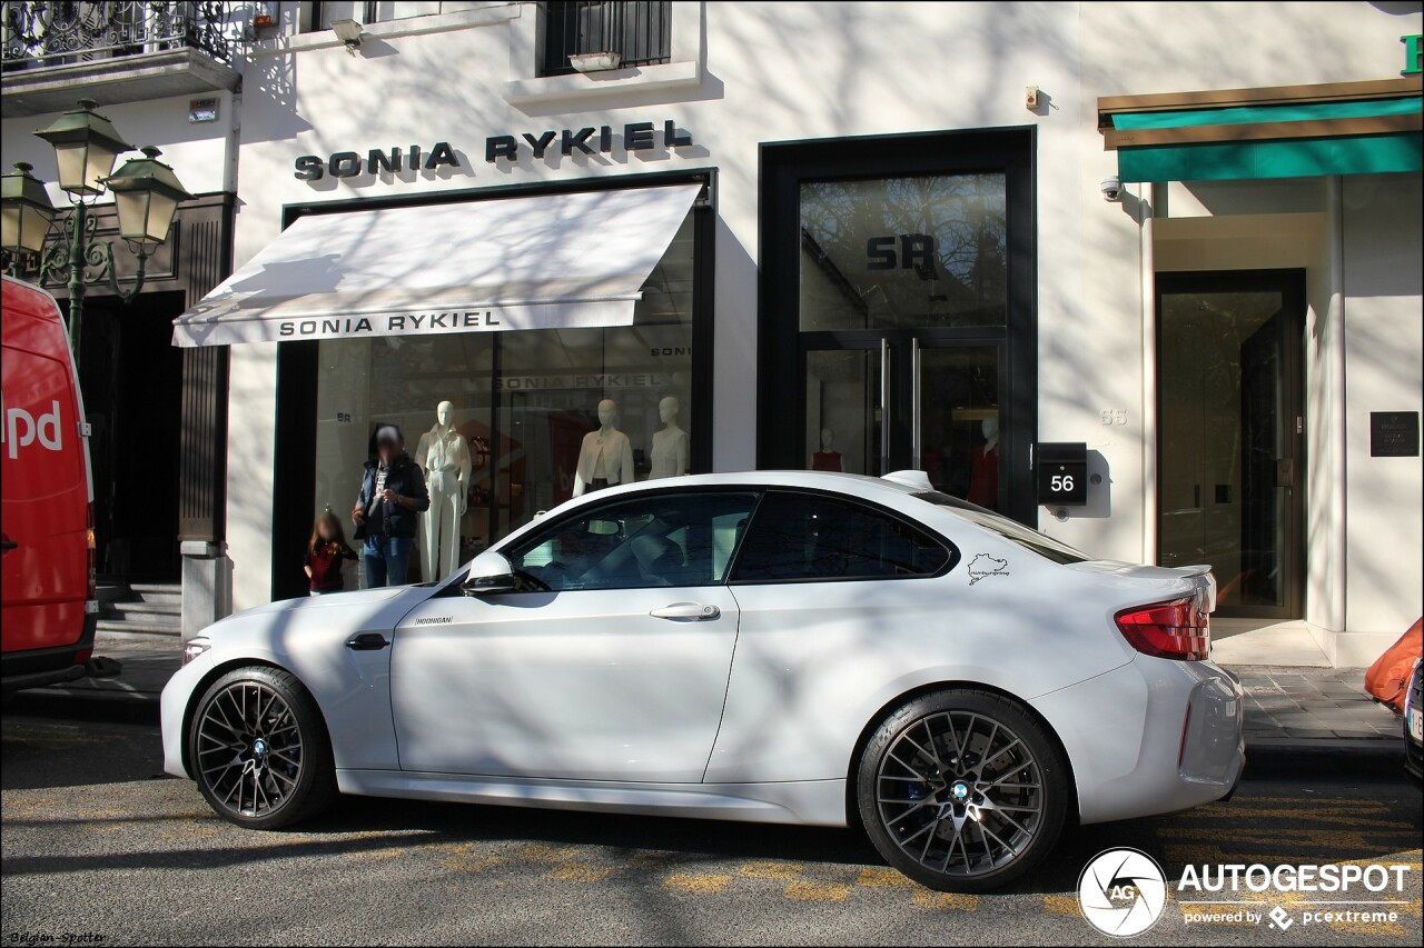
POLYGON ((540 75, 574 73, 570 56, 618 53, 619 65, 672 58, 672 4, 617 0, 551 1, 545 7, 540 75))

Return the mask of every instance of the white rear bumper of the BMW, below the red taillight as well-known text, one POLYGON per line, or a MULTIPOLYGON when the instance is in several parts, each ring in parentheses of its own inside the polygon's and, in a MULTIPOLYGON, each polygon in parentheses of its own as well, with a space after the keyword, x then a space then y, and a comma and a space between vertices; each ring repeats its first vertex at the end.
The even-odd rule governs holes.
POLYGON ((1072 766, 1082 823, 1220 800, 1246 764, 1240 685, 1210 662, 1139 655, 1032 702, 1072 766))

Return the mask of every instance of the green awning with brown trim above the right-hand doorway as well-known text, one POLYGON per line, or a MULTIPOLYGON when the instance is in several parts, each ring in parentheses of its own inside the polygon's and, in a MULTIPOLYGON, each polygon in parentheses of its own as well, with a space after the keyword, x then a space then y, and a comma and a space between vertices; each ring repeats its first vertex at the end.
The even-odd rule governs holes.
POLYGON ((1122 181, 1232 181, 1424 168, 1420 81, 1098 100, 1122 181))

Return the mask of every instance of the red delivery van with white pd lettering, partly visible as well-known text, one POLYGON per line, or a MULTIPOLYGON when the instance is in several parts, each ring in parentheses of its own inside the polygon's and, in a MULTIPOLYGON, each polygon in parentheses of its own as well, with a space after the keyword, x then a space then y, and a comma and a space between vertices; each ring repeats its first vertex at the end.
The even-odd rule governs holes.
POLYGON ((94 649, 88 427, 64 320, 44 290, 0 288, 0 692, 83 678, 94 649))

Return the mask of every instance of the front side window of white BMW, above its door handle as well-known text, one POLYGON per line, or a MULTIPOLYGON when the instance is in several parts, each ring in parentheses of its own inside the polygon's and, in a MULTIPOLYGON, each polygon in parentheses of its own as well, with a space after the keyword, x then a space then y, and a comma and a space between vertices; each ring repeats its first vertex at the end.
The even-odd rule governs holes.
POLYGON ((594 504, 503 552, 518 575, 554 592, 716 585, 758 497, 688 491, 594 504))

